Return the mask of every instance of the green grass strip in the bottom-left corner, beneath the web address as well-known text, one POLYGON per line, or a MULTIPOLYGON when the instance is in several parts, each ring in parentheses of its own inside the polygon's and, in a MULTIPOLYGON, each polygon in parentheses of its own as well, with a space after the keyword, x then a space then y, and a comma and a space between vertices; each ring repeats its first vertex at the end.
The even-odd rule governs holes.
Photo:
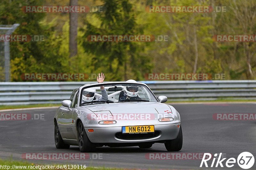
MULTIPOLYGON (((64 165, 64 164, 63 164, 64 165)), ((63 166, 63 165, 49 165, 49 166, 55 166, 54 168, 51 168, 52 170, 61 170, 61 169, 65 169, 65 170, 82 170, 82 169, 86 169, 86 170, 94 170, 94 169, 97 169, 97 170, 123 170, 122 168, 105 168, 105 167, 87 167, 85 166, 82 166, 81 168, 81 165, 79 167, 76 167, 76 168, 71 168, 72 165, 75 166, 76 164, 69 164, 69 168, 68 168, 68 164, 66 164, 66 168, 65 167, 60 167, 60 166, 63 166)), ((47 164, 35 164, 35 163, 30 163, 30 162, 26 162, 26 161, 16 161, 16 160, 2 160, 0 159, 0 169, 5 169, 7 170, 28 170, 28 169, 33 169, 33 170, 42 170, 42 169, 47 169, 47 168, 43 168, 42 166, 46 166, 47 167, 47 164), (12 166, 14 165, 13 169, 12 169, 12 166), (23 166, 23 167, 22 167, 23 166), (36 167, 37 166, 37 167, 36 167), (41 166, 41 169, 40 167, 41 166)), ((49 168, 48 168, 49 169, 49 168)))

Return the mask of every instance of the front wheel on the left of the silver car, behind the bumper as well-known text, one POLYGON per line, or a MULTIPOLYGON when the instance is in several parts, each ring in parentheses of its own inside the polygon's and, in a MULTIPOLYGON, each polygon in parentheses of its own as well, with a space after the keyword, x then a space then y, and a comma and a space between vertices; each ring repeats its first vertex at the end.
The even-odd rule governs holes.
POLYGON ((94 144, 89 140, 84 130, 82 122, 78 123, 77 127, 77 142, 81 152, 91 152, 94 150, 94 144))

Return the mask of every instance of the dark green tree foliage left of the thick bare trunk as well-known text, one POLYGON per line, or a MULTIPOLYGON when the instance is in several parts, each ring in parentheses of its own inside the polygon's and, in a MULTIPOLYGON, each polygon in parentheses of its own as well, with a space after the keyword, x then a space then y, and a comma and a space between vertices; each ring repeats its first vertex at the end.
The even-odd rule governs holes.
POLYGON ((0 24, 19 23, 13 34, 43 35, 44 41, 10 42, 11 80, 22 81, 24 73, 68 72, 68 53, 60 53, 64 39, 55 34, 54 26, 44 21, 44 13, 25 13, 24 6, 42 6, 42 0, 3 0, 0 24))

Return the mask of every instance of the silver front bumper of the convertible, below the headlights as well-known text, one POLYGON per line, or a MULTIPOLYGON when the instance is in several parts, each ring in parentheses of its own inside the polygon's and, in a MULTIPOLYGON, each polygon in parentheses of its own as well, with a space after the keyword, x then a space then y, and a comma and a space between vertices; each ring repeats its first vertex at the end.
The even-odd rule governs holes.
POLYGON ((102 128, 84 128, 89 140, 92 143, 141 143, 141 142, 158 142, 172 140, 177 138, 180 128, 177 124, 155 125, 156 136, 134 138, 119 138, 117 133, 122 132, 122 127, 102 127, 102 128), (88 132, 88 129, 93 129, 94 132, 88 132))

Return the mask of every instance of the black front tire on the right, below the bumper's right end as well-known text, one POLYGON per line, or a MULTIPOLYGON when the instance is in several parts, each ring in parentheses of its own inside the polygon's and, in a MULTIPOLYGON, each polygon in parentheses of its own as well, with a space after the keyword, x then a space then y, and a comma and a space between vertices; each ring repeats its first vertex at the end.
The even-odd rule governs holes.
POLYGON ((182 137, 182 129, 180 125, 180 132, 177 138, 166 141, 164 145, 167 151, 180 151, 182 148, 182 142, 183 142, 183 137, 182 137))

